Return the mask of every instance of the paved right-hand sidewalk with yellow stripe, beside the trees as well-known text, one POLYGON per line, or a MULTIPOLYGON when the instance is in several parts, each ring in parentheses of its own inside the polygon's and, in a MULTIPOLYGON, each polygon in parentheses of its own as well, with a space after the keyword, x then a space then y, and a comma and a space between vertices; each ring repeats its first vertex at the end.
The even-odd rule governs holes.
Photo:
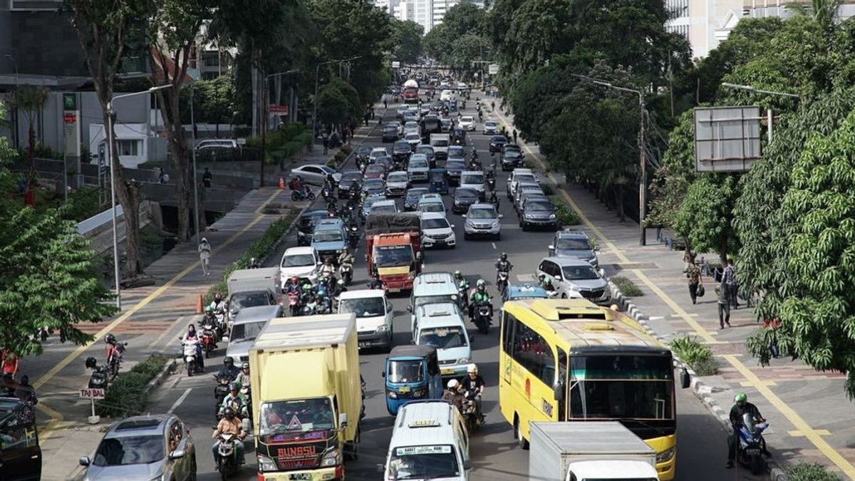
MULTIPOLYGON (((481 100, 486 114, 491 100, 481 100)), ((498 107, 501 98, 495 101, 498 107)), ((488 116, 508 126, 513 122, 513 116, 501 112, 488 116)), ((523 143, 523 147, 542 167, 545 159, 536 146, 523 143)), ((556 177, 550 175, 552 181, 563 184, 563 178, 556 177)), ((585 229, 598 238, 600 265, 607 274, 628 277, 644 293, 631 301, 657 335, 671 339, 688 334, 716 354, 718 374, 700 377, 705 386, 696 393, 712 413, 727 419, 734 395, 746 392, 749 401, 770 421, 764 435, 775 458, 785 464, 796 460, 819 462, 844 478, 855 479, 855 410, 843 391, 845 376, 814 371, 799 360, 773 359, 769 367, 758 365, 745 347, 746 338, 761 327, 752 309, 743 305, 732 310, 733 327, 720 330, 715 282, 705 279, 706 294, 693 305, 683 273, 683 251, 671 251, 659 243, 654 229, 647 232, 648 245, 640 246, 637 223, 619 222, 614 211, 608 211, 582 187, 561 187, 565 199, 581 213, 585 229)), ((714 254, 705 257, 716 258, 714 254)))

